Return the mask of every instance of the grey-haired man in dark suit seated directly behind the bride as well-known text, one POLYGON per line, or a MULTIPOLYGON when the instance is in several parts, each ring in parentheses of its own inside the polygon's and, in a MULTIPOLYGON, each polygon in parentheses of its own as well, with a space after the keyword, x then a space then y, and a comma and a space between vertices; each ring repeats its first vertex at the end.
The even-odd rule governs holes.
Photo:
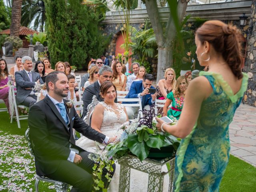
POLYGON ((86 89, 84 90, 82 100, 84 101, 84 110, 82 118, 84 118, 87 114, 87 106, 92 103, 92 97, 96 95, 96 98, 98 101, 104 101, 100 97, 100 84, 102 84, 105 81, 111 81, 112 80, 112 70, 109 66, 102 66, 98 72, 98 80, 94 82, 93 84, 90 84, 86 89))

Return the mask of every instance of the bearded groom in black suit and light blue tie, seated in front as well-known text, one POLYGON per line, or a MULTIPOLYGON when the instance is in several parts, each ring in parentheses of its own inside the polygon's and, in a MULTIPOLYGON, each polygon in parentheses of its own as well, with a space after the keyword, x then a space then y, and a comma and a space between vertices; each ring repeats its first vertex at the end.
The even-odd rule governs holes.
MULTIPOLYGON (((72 192, 92 191, 94 162, 88 158, 89 152, 76 146, 72 128, 100 143, 112 142, 114 138, 108 138, 85 124, 74 105, 63 99, 69 88, 64 72, 48 74, 46 88, 48 95, 31 107, 28 116, 36 173, 72 185, 72 192)), ((104 169, 102 180, 108 186, 106 173, 104 169)))

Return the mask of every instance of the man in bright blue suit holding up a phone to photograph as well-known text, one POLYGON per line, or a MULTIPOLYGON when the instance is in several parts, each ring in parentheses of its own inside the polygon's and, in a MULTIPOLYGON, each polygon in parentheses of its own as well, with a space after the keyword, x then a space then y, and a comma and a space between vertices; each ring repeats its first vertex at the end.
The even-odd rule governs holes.
MULTIPOLYGON (((132 82, 130 91, 125 98, 141 98, 142 110, 149 110, 150 106, 154 104, 156 100, 156 93, 150 94, 148 88, 154 88, 152 82, 154 76, 152 74, 145 74, 142 81, 132 82)), ((123 102, 123 103, 134 103, 134 102, 123 102)), ((126 111, 129 119, 134 119, 138 114, 138 107, 126 107, 126 111)))

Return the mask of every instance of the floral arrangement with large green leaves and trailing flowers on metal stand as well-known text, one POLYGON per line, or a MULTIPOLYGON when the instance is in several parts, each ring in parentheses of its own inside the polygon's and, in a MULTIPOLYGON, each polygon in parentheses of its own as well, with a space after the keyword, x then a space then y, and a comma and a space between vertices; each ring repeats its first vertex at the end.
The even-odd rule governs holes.
MULTIPOLYGON (((158 131, 156 128, 156 115, 154 114, 154 106, 149 111, 143 111, 143 118, 125 122, 120 126, 123 130, 114 143, 108 144, 103 150, 100 148, 96 153, 90 154, 89 158, 96 162, 94 166, 94 190, 102 188, 107 189, 101 181, 102 170, 106 166, 108 174, 106 178, 110 181, 111 165, 113 160, 121 158, 127 154, 137 156, 141 161, 150 156, 150 150, 161 150, 168 147, 170 157, 175 156, 176 150, 180 144, 180 139, 164 132, 158 131)), ((174 122, 176 123, 176 122, 174 122)), ((119 130, 120 130, 119 129, 119 130)))

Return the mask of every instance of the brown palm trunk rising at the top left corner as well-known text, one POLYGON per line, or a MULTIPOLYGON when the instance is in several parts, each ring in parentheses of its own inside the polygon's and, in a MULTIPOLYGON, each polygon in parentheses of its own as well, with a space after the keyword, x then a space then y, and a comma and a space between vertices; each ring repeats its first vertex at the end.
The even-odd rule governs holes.
POLYGON ((22 0, 12 0, 12 22, 10 36, 19 37, 22 0))

